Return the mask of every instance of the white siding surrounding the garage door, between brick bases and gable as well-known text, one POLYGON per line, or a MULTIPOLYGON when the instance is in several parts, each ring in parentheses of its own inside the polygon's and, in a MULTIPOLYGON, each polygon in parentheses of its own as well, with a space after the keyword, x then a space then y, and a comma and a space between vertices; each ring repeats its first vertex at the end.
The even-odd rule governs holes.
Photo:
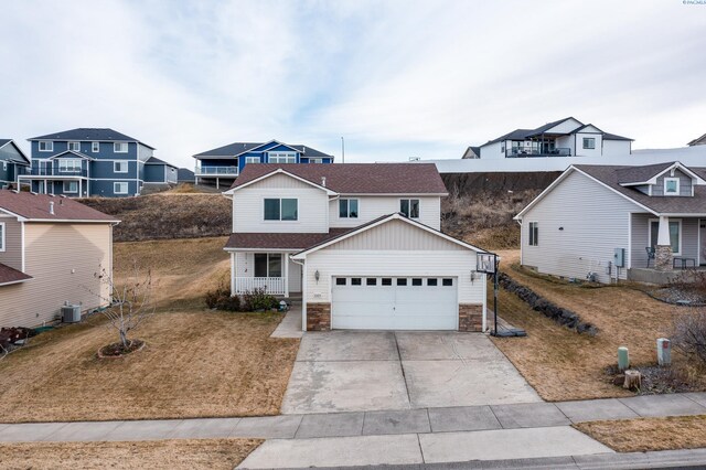
POLYGON ((458 278, 459 303, 485 303, 485 278, 471 281, 473 250, 321 249, 307 256, 307 301, 330 302, 334 276, 458 278), (319 280, 315 273, 319 271, 319 280))

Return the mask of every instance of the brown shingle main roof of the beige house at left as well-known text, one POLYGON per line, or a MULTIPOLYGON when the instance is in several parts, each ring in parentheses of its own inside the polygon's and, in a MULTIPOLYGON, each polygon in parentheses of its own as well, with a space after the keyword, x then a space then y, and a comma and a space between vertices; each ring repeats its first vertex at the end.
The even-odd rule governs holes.
POLYGON ((18 193, 10 190, 0 190, 0 211, 3 210, 30 221, 119 222, 111 215, 98 212, 68 197, 29 192, 18 193), (50 213, 50 202, 54 203, 54 214, 50 213))

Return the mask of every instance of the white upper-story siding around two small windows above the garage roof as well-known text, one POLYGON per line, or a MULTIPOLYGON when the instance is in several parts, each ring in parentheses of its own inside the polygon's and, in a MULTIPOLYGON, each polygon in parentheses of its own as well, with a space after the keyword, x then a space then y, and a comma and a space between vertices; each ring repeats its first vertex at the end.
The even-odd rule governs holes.
POLYGON ((367 196, 342 195, 341 199, 356 199, 359 201, 357 218, 340 217, 339 199, 329 203, 329 222, 331 227, 356 227, 383 215, 399 212, 400 199, 419 200, 418 221, 431 228, 441 228, 441 197, 439 196, 367 196))

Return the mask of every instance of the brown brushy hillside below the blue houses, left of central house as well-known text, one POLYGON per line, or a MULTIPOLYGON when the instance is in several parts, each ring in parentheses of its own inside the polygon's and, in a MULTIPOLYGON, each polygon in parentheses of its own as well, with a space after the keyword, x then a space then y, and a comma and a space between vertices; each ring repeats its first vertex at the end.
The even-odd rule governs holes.
POLYGON ((231 234, 231 200, 222 194, 159 193, 139 197, 85 199, 119 218, 116 242, 196 238, 231 234))

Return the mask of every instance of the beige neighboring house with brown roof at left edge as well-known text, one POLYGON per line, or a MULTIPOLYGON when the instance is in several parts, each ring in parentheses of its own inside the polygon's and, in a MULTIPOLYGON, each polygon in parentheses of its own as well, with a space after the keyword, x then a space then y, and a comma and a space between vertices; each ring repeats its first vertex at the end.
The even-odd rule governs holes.
POLYGON ((0 190, 0 327, 53 321, 64 303, 104 307, 96 274, 113 273, 117 223, 67 197, 0 190))

